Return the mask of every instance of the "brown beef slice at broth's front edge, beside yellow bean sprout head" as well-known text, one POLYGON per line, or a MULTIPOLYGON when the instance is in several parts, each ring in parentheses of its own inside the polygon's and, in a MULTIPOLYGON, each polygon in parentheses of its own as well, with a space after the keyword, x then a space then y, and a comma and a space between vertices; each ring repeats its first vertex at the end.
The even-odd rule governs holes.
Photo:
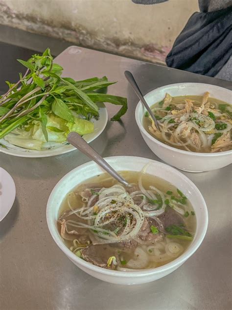
POLYGON ((107 266, 107 261, 111 256, 115 256, 117 262, 119 261, 116 250, 107 244, 90 245, 81 250, 81 256, 93 265, 108 269, 116 267, 113 263, 110 267, 107 266))

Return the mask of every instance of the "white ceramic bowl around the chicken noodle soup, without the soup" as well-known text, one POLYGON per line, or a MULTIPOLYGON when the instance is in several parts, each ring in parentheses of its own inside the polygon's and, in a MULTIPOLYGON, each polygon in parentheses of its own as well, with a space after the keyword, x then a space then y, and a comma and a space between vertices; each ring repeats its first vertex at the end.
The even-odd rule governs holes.
MULTIPOLYGON (((171 96, 198 95, 209 91, 210 97, 232 104, 232 92, 229 89, 202 83, 177 83, 159 87, 144 97, 149 106, 163 100, 165 94, 171 96)), ((195 153, 168 146, 144 129, 142 124, 145 109, 139 101, 135 117, 141 135, 154 154, 168 164, 188 172, 202 172, 225 167, 232 163, 232 151, 220 153, 195 153)))

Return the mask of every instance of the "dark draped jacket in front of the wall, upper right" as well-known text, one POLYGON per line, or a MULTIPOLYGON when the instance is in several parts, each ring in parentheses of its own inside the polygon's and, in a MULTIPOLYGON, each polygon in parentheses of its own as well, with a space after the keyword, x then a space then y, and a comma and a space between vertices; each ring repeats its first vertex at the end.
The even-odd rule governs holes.
MULTIPOLYGON (((167 0, 133 0, 156 4, 167 0)), ((232 56, 232 0, 199 0, 166 57, 168 67, 214 77, 232 56)))

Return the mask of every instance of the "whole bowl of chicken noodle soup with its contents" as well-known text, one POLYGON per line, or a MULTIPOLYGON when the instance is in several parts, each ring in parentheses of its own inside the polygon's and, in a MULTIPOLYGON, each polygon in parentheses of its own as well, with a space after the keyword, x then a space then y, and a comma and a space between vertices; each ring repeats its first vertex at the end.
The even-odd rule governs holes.
POLYGON ((232 92, 201 83, 165 85, 145 99, 160 130, 139 102, 136 122, 149 148, 181 170, 202 172, 232 163, 232 92))

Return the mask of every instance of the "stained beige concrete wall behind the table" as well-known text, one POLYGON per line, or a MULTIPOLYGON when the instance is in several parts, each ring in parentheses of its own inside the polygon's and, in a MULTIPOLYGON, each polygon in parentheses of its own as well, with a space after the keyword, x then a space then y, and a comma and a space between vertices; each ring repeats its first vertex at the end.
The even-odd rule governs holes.
POLYGON ((0 24, 163 62, 195 11, 197 0, 169 0, 156 5, 139 5, 131 0, 0 0, 0 24))

